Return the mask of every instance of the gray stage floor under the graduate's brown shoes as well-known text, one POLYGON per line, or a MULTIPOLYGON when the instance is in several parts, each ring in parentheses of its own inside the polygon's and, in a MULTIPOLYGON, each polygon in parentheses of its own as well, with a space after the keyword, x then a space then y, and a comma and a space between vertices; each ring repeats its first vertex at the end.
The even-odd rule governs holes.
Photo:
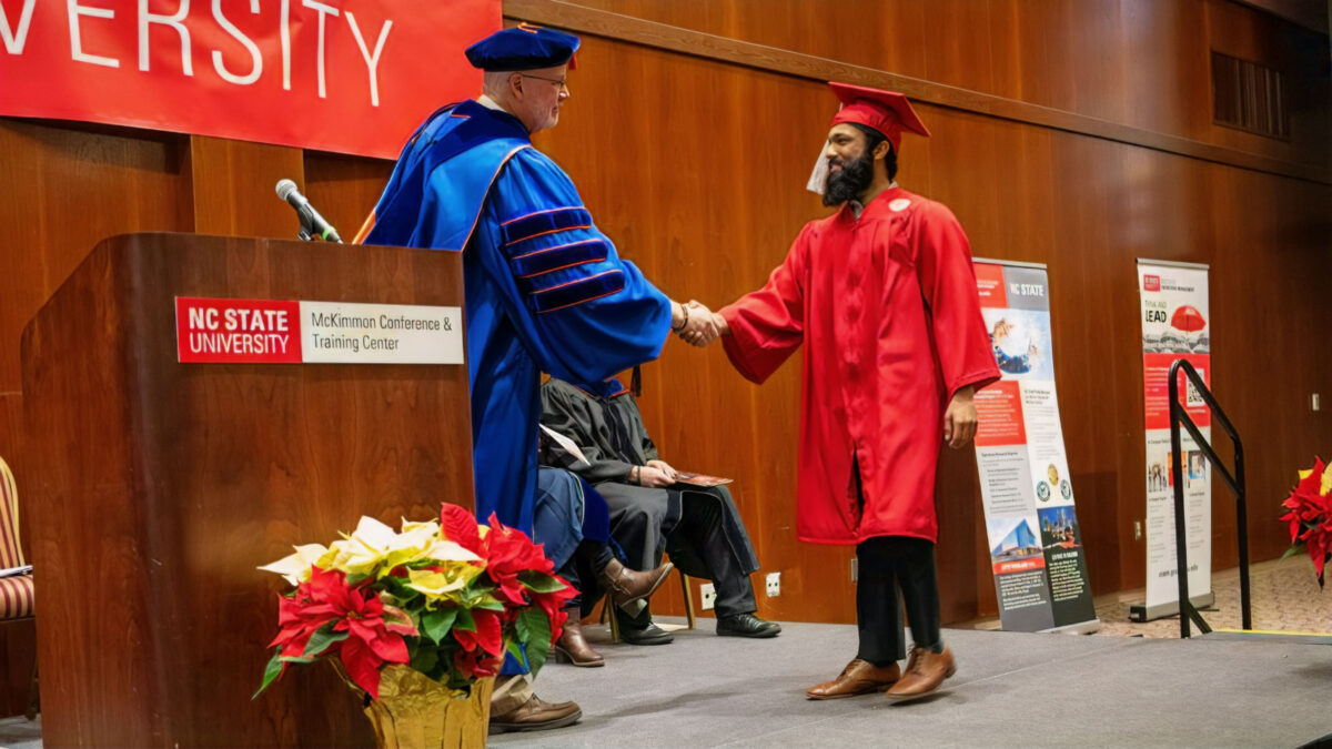
POLYGON ((892 705, 805 698, 854 656, 854 626, 749 641, 699 624, 665 646, 598 644, 601 669, 549 665, 537 694, 577 700, 582 722, 490 745, 1292 748, 1332 733, 1328 645, 950 629, 958 674, 892 705))

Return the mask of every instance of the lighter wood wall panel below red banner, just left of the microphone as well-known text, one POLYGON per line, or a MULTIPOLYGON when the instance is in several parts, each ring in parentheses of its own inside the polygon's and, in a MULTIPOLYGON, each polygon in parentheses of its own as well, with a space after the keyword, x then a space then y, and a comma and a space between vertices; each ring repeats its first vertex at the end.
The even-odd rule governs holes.
POLYGON ((305 183, 300 148, 189 136, 193 231, 201 235, 296 236, 296 212, 277 197, 277 181, 305 183))

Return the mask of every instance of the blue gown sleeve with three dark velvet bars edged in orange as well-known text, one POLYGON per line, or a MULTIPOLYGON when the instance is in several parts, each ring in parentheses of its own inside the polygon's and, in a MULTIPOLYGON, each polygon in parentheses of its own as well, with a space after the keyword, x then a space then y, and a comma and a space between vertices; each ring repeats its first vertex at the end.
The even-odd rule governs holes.
POLYGON ((597 229, 573 181, 523 149, 496 177, 477 223, 481 263, 539 367, 598 381, 661 355, 670 301, 597 229))

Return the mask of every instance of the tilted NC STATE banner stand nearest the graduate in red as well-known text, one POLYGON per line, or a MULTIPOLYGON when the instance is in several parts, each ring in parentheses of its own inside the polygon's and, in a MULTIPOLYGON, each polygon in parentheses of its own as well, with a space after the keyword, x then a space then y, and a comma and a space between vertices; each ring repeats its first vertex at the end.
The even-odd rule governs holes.
POLYGON ((976 393, 976 465, 1003 628, 1099 629, 1064 454, 1044 265, 976 260, 1003 377, 976 393))

